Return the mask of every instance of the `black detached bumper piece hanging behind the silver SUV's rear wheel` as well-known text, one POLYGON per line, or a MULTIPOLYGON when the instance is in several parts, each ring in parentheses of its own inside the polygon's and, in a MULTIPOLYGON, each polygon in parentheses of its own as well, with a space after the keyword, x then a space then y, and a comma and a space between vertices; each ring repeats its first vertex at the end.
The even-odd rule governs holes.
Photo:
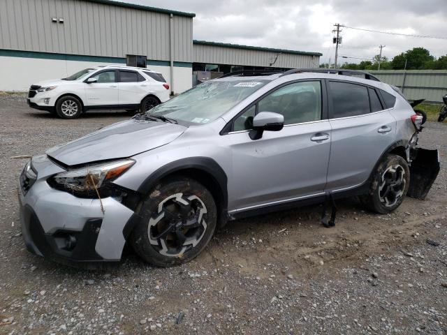
POLYGON ((425 200, 440 169, 437 149, 415 148, 411 150, 410 185, 408 195, 411 198, 425 200))

